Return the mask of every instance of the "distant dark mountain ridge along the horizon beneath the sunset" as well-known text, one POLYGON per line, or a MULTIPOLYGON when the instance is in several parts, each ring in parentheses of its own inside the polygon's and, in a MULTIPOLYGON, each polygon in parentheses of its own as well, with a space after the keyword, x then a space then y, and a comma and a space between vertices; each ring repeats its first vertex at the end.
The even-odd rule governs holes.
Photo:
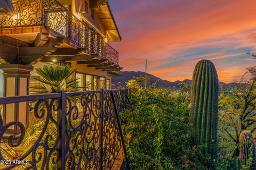
MULTIPOLYGON (((125 82, 132 80, 133 77, 140 77, 145 76, 145 72, 141 72, 141 71, 119 71, 119 73, 121 73, 122 75, 119 77, 113 77, 112 78, 112 82, 114 83, 118 83, 121 85, 125 85, 125 82)), ((154 82, 157 81, 156 86, 157 87, 170 87, 170 88, 182 88, 184 86, 184 84, 188 84, 189 86, 191 86, 192 84, 192 80, 188 80, 185 79, 183 81, 167 81, 167 80, 163 80, 161 78, 155 77, 152 74, 147 74, 148 78, 149 78, 149 84, 152 84, 154 82)), ((235 87, 237 86, 238 83, 223 83, 220 82, 220 86, 222 86, 223 89, 227 89, 229 87, 235 87)))

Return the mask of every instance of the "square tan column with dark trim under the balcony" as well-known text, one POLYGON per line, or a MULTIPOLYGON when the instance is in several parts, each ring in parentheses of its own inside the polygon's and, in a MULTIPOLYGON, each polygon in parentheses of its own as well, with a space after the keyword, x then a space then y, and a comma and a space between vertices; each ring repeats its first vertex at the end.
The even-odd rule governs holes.
MULTIPOLYGON (((34 69, 30 65, 1 64, 4 75, 4 97, 26 96, 29 94, 30 72, 34 69)), ((26 124, 28 121, 28 103, 7 104, 3 112, 4 124, 19 121, 26 124)), ((12 131, 17 132, 17 127, 12 131)))

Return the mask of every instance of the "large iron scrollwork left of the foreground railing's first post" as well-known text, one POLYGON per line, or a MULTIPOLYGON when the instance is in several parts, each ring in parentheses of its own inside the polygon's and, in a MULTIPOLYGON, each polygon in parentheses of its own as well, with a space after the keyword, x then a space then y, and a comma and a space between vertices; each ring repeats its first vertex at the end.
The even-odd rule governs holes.
POLYGON ((49 165, 57 165, 60 158, 60 151, 57 147, 60 130, 54 114, 60 108, 59 103, 59 98, 41 99, 36 102, 34 110, 30 114, 34 120, 40 121, 41 124, 37 127, 36 140, 29 146, 25 145, 25 142, 28 142, 25 134, 28 133, 29 129, 20 122, 9 122, 4 125, 2 116, 0 116, 0 160, 6 163, 6 165, 2 164, 2 167, 0 166, 1 169, 49 169, 49 165), (5 143, 6 130, 14 126, 18 126, 20 131, 18 139, 14 139, 14 135, 11 135, 8 143, 5 143), (50 133, 50 128, 55 129, 55 136, 50 133), (11 157, 7 154, 8 152, 16 155, 11 157))

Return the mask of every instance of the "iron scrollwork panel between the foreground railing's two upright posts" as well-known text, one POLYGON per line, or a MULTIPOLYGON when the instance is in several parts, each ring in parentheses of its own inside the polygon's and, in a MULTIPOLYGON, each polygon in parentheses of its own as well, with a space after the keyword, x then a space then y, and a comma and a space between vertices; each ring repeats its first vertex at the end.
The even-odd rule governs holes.
POLYGON ((66 116, 66 168, 98 169, 99 160, 99 94, 80 97, 79 104, 70 99, 66 116))

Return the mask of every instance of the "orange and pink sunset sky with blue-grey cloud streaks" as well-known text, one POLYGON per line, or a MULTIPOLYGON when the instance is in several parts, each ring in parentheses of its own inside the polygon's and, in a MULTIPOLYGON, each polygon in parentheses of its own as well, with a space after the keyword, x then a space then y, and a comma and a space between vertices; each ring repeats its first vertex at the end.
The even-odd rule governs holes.
POLYGON ((219 80, 238 80, 256 60, 254 0, 110 0, 122 36, 111 43, 124 71, 164 80, 191 79, 199 60, 211 60, 219 80))

